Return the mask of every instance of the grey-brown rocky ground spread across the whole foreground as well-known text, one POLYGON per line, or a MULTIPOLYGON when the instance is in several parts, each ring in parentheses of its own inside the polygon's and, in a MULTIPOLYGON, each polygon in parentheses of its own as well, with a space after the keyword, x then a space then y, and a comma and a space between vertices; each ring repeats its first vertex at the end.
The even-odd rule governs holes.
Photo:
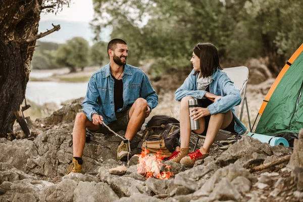
MULTIPOLYGON (((124 173, 111 174, 110 169, 123 165, 116 161, 121 139, 99 134, 86 143, 83 174, 65 176, 81 102, 77 99, 30 123, 31 140, 0 139, 0 201, 303 201, 303 131, 294 148, 272 147, 248 136, 233 144, 223 142, 223 147, 213 145, 212 155, 193 168, 165 162, 174 176, 147 180, 137 173, 135 156, 124 173), (250 170, 290 155, 289 162, 250 170)), ((140 138, 138 133, 131 144, 133 154, 140 138)), ((191 137, 191 149, 194 142, 191 137)))

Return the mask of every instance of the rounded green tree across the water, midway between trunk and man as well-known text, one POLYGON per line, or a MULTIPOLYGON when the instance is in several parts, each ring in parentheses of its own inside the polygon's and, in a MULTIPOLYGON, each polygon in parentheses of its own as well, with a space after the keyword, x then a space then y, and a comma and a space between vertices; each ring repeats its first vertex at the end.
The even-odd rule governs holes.
POLYGON ((88 65, 89 44, 82 37, 74 37, 59 47, 56 62, 62 67, 68 67, 70 72, 76 72, 76 67, 83 71, 88 65))

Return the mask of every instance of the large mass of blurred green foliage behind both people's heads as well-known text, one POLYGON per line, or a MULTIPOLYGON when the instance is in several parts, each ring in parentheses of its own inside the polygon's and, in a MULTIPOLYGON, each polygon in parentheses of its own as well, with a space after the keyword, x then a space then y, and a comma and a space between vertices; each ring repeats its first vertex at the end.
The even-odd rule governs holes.
POLYGON ((303 41, 300 8, 298 0, 94 0, 92 24, 127 41, 128 63, 156 61, 155 74, 190 64, 197 42, 213 43, 230 62, 267 57, 277 73, 303 41))

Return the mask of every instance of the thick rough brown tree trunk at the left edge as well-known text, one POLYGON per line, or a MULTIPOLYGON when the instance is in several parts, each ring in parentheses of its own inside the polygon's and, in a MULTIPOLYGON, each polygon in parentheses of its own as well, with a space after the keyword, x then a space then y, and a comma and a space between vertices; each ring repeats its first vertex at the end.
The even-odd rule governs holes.
POLYGON ((0 137, 13 129, 18 111, 25 97, 30 61, 40 20, 43 0, 10 1, 0 4, 0 137))

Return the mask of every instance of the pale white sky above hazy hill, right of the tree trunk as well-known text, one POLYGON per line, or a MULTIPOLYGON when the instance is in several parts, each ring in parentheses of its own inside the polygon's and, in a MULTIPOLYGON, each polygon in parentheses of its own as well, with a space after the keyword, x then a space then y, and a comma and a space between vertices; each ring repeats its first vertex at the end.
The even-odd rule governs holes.
POLYGON ((72 0, 70 7, 64 7, 57 15, 41 14, 40 21, 63 20, 72 22, 90 22, 93 19, 92 0, 72 0))

